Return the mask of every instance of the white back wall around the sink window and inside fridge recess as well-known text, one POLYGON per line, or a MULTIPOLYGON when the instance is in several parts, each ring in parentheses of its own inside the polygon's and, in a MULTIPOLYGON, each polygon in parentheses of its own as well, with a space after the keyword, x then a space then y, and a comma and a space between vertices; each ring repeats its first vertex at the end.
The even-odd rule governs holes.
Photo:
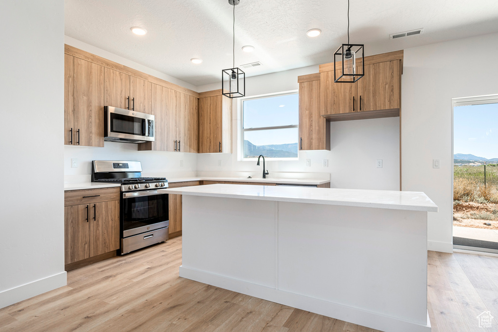
MULTIPOLYGON (((253 76, 246 79, 246 96, 297 90, 297 76, 317 73, 318 66, 292 69, 253 76)), ((199 91, 220 89, 221 84, 198 87, 199 91)), ((233 153, 199 154, 198 171, 254 171, 262 173, 262 166, 253 161, 238 161, 238 128, 240 128, 239 99, 233 102, 233 153), (219 161, 222 161, 222 166, 219 161)), ((399 118, 340 121, 331 126, 331 151, 299 151, 297 161, 269 161, 270 172, 330 173, 331 186, 336 188, 362 188, 399 190, 399 118), (306 166, 306 159, 311 166, 306 166), (323 160, 329 166, 323 166, 323 160), (377 168, 375 161, 383 160, 377 168)), ((261 175, 258 175, 261 176, 261 175)))

